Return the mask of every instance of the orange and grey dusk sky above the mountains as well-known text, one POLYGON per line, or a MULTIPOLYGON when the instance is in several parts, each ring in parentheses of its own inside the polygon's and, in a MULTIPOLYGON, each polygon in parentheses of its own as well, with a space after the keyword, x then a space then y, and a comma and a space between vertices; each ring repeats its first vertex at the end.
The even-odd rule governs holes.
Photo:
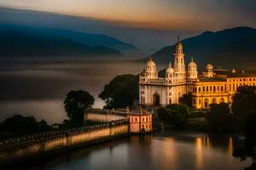
POLYGON ((256 27, 254 0, 0 0, 0 7, 32 9, 160 30, 256 27))

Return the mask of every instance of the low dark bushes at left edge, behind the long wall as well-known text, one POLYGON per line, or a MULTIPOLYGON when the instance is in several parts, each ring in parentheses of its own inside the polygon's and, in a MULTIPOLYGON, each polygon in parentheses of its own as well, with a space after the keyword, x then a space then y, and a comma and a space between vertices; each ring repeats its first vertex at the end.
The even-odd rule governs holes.
POLYGON ((33 116, 14 115, 3 121, 1 131, 10 133, 38 133, 50 130, 44 120, 37 122, 33 116))

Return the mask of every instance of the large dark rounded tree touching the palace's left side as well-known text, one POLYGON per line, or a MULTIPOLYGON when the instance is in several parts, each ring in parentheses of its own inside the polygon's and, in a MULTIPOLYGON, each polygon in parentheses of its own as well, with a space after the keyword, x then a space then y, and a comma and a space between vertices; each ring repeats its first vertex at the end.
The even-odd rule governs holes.
POLYGON ((138 99, 138 76, 121 75, 114 77, 104 86, 99 98, 105 100, 106 108, 125 108, 138 99))

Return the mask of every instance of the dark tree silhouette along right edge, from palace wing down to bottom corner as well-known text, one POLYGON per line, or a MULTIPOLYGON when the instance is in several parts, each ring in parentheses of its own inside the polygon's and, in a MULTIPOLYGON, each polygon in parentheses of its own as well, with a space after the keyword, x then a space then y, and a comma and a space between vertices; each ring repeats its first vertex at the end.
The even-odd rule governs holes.
POLYGON ((242 86, 237 88, 233 97, 232 111, 243 123, 243 131, 245 133, 245 144, 243 147, 236 148, 233 156, 240 157, 245 160, 246 157, 253 158, 253 164, 245 169, 256 169, 256 87, 242 86))

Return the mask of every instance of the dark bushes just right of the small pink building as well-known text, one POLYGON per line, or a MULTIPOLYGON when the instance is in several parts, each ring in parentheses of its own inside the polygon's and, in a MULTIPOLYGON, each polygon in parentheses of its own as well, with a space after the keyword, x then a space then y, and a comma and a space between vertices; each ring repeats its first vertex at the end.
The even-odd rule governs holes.
POLYGON ((187 105, 167 105, 166 108, 160 107, 157 112, 159 122, 166 125, 165 127, 179 129, 188 127, 189 108, 187 105))

